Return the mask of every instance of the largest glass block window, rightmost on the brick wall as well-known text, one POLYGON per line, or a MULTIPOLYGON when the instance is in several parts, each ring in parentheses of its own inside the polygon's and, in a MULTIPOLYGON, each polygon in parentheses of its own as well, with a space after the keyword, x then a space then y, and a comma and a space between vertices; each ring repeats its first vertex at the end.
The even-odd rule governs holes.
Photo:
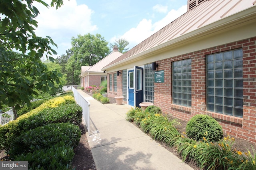
POLYGON ((207 110, 243 117, 242 49, 206 56, 207 110))

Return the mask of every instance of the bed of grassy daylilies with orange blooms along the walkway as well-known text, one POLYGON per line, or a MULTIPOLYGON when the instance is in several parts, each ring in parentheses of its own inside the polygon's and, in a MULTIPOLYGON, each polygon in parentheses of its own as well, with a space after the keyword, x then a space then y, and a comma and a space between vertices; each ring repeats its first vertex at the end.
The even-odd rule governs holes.
POLYGON ((164 142, 170 147, 176 147, 184 161, 194 161, 200 168, 207 170, 256 169, 254 150, 251 153, 249 150, 242 152, 234 148, 235 139, 232 137, 227 136, 217 142, 210 142, 206 132, 202 141, 195 141, 187 138, 186 132, 178 132, 176 126, 179 122, 176 119, 168 119, 161 113, 142 111, 140 108, 130 109, 126 120, 134 122, 155 140, 164 142))

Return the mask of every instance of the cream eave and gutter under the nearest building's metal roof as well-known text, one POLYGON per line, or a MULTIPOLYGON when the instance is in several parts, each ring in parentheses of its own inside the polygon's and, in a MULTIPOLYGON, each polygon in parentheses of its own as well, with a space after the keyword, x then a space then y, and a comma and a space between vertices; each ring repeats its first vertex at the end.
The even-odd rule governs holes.
POLYGON ((148 49, 139 54, 133 55, 127 59, 114 63, 110 66, 106 66, 102 68, 102 70, 110 70, 110 69, 114 69, 122 65, 125 65, 127 63, 131 63, 131 62, 134 63, 135 61, 141 60, 144 57, 152 56, 157 53, 162 53, 163 51, 170 50, 177 46, 185 45, 190 41, 202 39, 204 38, 205 35, 216 33, 218 31, 224 31, 230 27, 238 27, 241 24, 245 25, 248 22, 255 21, 255 15, 256 15, 256 6, 252 6, 250 8, 247 8, 246 10, 243 10, 241 12, 238 12, 226 18, 222 18, 204 27, 200 27, 194 31, 191 31, 175 39, 172 39, 170 41, 167 41, 165 43, 152 47, 151 49, 148 49))

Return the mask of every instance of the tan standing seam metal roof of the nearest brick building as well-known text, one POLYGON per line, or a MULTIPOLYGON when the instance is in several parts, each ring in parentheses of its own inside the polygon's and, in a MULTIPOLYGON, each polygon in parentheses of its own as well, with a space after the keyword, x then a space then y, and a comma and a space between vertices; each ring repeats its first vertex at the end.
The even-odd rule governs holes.
POLYGON ((208 0, 202 2, 202 4, 187 11, 185 14, 130 49, 127 53, 106 65, 106 67, 180 37, 181 35, 194 31, 200 27, 214 23, 222 18, 231 16, 246 8, 250 8, 255 4, 256 0, 208 0))

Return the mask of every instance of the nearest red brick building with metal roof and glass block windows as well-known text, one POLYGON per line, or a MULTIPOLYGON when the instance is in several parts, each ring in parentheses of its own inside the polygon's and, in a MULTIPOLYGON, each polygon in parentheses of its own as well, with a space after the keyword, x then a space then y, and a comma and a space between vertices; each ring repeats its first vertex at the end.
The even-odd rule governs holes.
POLYGON ((188 11, 102 70, 108 96, 188 121, 214 117, 256 143, 256 1, 188 0, 188 11))

